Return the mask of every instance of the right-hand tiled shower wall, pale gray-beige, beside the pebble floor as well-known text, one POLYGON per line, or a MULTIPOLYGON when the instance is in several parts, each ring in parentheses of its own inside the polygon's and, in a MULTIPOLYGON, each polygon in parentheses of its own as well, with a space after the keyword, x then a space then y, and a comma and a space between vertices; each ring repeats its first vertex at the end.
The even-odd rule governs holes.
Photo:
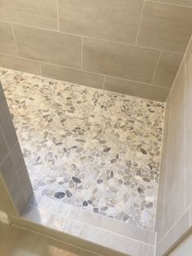
POLYGON ((192 40, 168 96, 156 216, 157 255, 191 227, 192 40))

